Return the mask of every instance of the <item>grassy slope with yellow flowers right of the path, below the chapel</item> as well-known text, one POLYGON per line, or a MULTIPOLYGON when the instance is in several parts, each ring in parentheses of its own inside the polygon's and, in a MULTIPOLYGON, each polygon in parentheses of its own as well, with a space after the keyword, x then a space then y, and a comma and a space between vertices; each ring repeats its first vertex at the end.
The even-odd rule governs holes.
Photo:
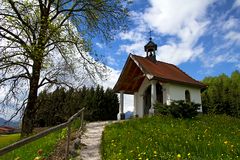
POLYGON ((124 121, 105 128, 101 147, 104 160, 240 159, 240 119, 154 116, 124 121))

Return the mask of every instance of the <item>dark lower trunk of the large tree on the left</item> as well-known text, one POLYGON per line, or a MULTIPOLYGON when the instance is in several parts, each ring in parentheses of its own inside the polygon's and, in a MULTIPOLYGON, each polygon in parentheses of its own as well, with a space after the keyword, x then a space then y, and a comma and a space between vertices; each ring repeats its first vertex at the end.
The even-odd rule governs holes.
POLYGON ((32 134, 34 127, 34 116, 36 113, 36 102, 38 93, 38 82, 40 78, 41 62, 34 62, 32 77, 30 79, 30 89, 28 95, 27 106, 22 119, 21 137, 32 134))

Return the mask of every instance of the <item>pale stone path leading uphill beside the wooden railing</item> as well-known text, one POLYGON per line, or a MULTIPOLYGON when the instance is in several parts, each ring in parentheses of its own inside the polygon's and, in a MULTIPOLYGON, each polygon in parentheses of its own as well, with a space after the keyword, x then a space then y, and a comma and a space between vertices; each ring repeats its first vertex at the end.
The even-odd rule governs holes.
POLYGON ((80 156, 81 160, 101 160, 100 144, 104 127, 111 122, 92 122, 86 125, 86 131, 82 135, 80 156))

